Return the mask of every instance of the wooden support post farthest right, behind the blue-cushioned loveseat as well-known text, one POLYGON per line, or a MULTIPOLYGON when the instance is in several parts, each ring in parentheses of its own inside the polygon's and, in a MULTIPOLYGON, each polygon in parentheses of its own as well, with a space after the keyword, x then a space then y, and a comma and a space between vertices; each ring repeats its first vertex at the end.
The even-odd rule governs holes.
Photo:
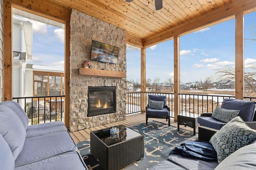
POLYGON ((235 59, 235 96, 244 99, 244 15, 236 15, 236 59, 235 59))

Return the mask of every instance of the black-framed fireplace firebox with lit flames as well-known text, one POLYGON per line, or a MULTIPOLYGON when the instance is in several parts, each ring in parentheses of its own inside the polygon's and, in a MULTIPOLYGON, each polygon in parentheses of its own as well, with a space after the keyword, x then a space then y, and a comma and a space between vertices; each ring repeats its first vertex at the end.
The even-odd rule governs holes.
POLYGON ((88 87, 88 117, 115 112, 115 86, 88 87))

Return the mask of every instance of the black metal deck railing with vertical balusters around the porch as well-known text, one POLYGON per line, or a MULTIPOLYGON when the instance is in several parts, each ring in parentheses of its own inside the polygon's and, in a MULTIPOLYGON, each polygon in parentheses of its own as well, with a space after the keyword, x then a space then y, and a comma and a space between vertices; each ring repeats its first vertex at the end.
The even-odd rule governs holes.
MULTIPOLYGON (((174 93, 145 92, 146 102, 148 101, 148 94, 166 96, 166 104, 170 107, 170 117, 174 117, 174 93)), ((142 92, 127 92, 127 114, 142 111, 141 95, 142 92)), ((235 96, 181 93, 180 114, 197 117, 201 113, 213 112, 216 105, 221 106, 225 98, 235 98, 235 96)), ((64 95, 18 97, 12 99, 24 108, 31 125, 51 121, 64 121, 64 95)), ((244 97, 244 100, 256 101, 256 97, 244 97)))

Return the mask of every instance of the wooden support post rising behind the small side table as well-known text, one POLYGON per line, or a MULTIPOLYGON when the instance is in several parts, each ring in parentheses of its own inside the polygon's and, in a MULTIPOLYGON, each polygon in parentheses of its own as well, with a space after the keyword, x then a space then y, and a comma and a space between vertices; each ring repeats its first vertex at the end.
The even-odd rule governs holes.
POLYGON ((180 37, 174 36, 174 121, 180 114, 180 37))

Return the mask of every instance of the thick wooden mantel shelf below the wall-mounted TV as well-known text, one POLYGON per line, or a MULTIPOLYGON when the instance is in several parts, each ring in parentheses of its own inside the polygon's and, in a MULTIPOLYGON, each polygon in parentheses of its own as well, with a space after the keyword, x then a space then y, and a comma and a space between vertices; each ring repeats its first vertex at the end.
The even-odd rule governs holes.
POLYGON ((101 76, 101 77, 117 77, 126 78, 126 72, 110 71, 110 70, 99 70, 93 68, 79 68, 79 75, 84 76, 101 76))

